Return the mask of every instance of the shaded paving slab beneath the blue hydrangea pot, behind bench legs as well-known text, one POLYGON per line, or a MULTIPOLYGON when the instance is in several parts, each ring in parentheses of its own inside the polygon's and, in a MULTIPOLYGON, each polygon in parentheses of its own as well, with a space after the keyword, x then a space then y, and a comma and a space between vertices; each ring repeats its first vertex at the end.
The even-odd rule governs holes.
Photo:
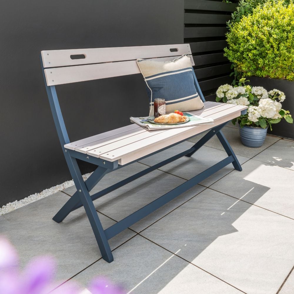
MULTIPOLYGON (((242 144, 240 135, 239 135, 239 129, 236 128, 230 128, 230 127, 224 127, 222 129, 223 134, 227 138, 228 142, 230 143, 231 147, 233 148, 235 154, 242 155, 245 157, 252 158, 256 154, 263 151, 268 146, 272 145, 276 141, 280 140, 280 138, 272 137, 272 136, 266 136, 265 141, 263 143, 263 146, 259 148, 249 148, 242 144)), ((198 137, 194 137, 189 139, 191 142, 197 142, 199 140, 198 137)), ((220 141, 218 140, 217 136, 213 136, 206 144, 205 146, 216 148, 219 150, 224 150, 223 146, 220 144, 220 141)))

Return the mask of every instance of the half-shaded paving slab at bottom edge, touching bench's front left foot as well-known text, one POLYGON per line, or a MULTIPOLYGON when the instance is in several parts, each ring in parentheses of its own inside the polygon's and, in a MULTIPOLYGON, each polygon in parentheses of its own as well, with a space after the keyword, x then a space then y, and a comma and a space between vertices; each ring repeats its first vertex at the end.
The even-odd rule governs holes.
POLYGON ((124 293, 242 293, 141 236, 114 250, 113 256, 112 263, 99 260, 74 280, 85 292, 90 281, 102 275, 121 285, 124 293))

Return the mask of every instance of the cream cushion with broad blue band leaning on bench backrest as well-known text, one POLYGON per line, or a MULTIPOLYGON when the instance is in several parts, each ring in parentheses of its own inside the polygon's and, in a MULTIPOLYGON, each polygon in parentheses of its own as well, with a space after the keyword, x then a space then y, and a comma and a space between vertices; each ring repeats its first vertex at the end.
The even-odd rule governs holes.
POLYGON ((151 114, 156 98, 165 99, 166 112, 203 108, 203 101, 194 85, 193 67, 188 56, 182 55, 173 61, 137 59, 137 63, 147 85, 151 114))

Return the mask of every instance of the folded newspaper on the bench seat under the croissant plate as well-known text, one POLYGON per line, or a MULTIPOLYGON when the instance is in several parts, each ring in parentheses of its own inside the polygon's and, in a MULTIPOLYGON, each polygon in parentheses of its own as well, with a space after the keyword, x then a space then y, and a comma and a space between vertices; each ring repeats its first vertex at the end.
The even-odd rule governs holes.
POLYGON ((195 126, 198 124, 212 124, 213 119, 212 118, 205 118, 205 117, 200 117, 195 114, 192 114, 190 112, 184 112, 183 113, 185 116, 190 117, 190 121, 187 123, 182 123, 178 125, 157 125, 154 123, 151 123, 148 121, 148 116, 144 117, 130 117, 131 123, 136 123, 139 126, 146 128, 147 130, 158 130, 158 129, 168 129, 168 128, 185 128, 189 126, 195 126))

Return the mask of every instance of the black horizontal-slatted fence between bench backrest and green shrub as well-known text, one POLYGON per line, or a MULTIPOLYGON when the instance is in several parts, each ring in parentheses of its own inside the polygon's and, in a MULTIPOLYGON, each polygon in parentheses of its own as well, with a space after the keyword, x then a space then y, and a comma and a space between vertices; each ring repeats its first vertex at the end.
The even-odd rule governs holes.
POLYGON ((231 83, 230 62, 223 56, 226 22, 237 4, 209 0, 184 0, 184 43, 190 43, 195 74, 203 95, 215 100, 216 89, 231 83))

